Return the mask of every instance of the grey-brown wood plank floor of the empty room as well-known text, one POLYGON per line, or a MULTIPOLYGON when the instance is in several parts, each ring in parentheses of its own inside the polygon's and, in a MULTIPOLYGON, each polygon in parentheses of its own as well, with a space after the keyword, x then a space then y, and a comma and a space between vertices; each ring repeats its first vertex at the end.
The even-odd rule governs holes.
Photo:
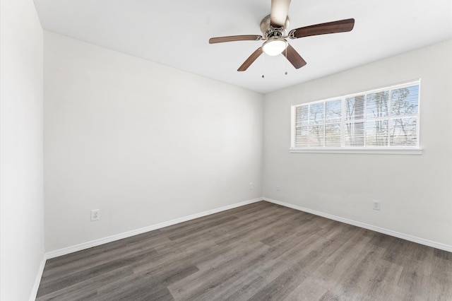
POLYGON ((49 259, 37 300, 452 300, 452 253, 261 201, 49 259))

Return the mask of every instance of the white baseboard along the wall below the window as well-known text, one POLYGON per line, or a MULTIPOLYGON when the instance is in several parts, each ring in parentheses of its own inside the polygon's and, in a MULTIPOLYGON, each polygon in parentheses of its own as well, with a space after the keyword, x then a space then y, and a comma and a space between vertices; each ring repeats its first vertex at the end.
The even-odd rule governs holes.
POLYGON ((429 246, 429 247, 434 247, 436 249, 441 249, 441 250, 444 250, 444 251, 452 252, 452 246, 450 246, 448 244, 441 244, 440 242, 432 242, 431 240, 424 240, 423 238, 420 238, 420 237, 415 237, 415 236, 408 235, 408 234, 405 234, 405 233, 396 232, 396 231, 388 230, 388 229, 385 229, 385 228, 380 228, 380 227, 377 227, 377 226, 374 226, 374 225, 368 225, 366 223, 357 222, 356 220, 349 220, 347 218, 341 218, 339 216, 333 216, 333 215, 328 214, 328 213, 323 213, 321 211, 316 211, 316 210, 312 210, 312 209, 309 209, 309 208, 300 207, 300 206, 297 206, 297 205, 293 205, 291 203, 285 203, 283 201, 277 201, 277 200, 268 199, 268 198, 263 198, 263 200, 264 201, 268 201, 270 203, 276 203, 276 204, 281 205, 281 206, 285 206, 285 207, 289 207, 289 208, 292 208, 292 209, 296 209, 296 210, 299 210, 299 211, 312 213, 312 214, 314 214, 316 216, 322 216, 323 218, 329 218, 331 220, 337 220, 338 222, 341 222, 341 223, 346 223, 346 224, 349 224, 349 225, 355 225, 355 226, 360 227, 360 228, 372 230, 372 231, 375 231, 375 232, 380 232, 380 233, 383 233, 383 234, 386 234, 386 235, 391 235, 391 236, 394 236, 394 237, 401 238, 403 240, 408 240, 410 242, 416 242, 418 244, 424 244, 424 245, 429 246))

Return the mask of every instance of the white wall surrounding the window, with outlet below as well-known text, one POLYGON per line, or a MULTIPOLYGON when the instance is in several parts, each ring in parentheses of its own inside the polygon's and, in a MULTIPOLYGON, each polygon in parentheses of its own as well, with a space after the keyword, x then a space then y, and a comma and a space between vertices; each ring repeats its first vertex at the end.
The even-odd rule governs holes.
POLYGON ((451 83, 449 40, 266 95, 264 196, 452 247, 451 83), (291 105, 417 78, 422 155, 289 153, 291 105))

